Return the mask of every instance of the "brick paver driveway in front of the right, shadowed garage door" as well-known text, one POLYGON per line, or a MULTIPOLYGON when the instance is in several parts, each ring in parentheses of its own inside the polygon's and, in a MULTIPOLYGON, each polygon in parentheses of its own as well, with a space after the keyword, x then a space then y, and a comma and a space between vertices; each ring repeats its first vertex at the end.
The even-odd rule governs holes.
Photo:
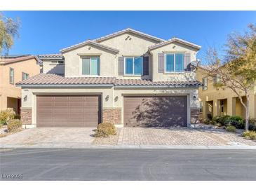
POLYGON ((122 128, 117 144, 223 146, 256 142, 220 128, 122 128))

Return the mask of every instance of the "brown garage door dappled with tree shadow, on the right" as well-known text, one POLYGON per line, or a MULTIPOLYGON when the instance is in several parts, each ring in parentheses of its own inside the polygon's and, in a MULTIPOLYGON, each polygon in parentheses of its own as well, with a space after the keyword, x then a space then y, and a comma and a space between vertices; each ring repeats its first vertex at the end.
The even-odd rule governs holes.
POLYGON ((187 126, 187 96, 124 97, 124 126, 187 126))

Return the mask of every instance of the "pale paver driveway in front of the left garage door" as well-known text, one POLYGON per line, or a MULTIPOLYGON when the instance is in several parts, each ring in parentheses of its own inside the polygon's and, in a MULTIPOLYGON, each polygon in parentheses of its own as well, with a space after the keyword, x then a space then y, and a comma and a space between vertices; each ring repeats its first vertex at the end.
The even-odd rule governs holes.
POLYGON ((65 147, 83 146, 93 142, 95 128, 33 128, 22 130, 13 135, 0 138, 0 147, 13 146, 40 146, 65 147))

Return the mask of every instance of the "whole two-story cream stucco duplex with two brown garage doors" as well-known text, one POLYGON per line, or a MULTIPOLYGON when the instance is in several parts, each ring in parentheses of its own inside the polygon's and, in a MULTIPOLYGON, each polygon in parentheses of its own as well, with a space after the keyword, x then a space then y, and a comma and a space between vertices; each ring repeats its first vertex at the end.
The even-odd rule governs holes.
POLYGON ((60 53, 65 76, 51 74, 53 68, 43 69, 46 74, 17 83, 22 87, 24 126, 194 125, 201 83, 191 71, 191 62, 200 48, 134 29, 64 48, 60 53))

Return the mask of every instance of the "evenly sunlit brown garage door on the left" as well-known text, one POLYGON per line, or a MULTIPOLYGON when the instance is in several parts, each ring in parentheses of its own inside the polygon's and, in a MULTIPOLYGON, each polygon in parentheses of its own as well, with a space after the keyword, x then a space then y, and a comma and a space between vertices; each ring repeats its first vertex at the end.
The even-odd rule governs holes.
POLYGON ((37 95, 37 127, 95 127, 100 95, 37 95))

